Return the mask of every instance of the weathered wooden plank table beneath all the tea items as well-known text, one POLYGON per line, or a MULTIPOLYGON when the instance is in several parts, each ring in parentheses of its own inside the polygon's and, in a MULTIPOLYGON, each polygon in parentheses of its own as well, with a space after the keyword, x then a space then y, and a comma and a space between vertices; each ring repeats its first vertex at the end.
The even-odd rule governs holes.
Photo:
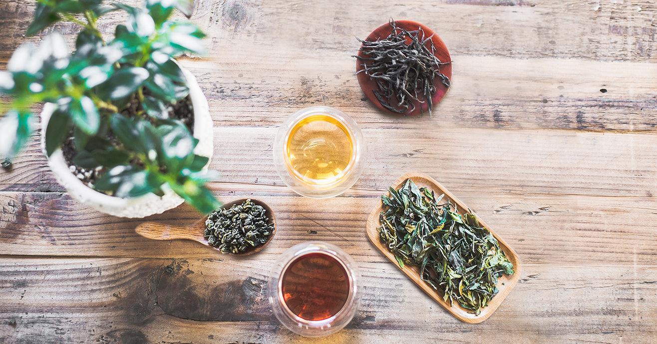
MULTIPOLYGON (((33 12, 0 1, 1 69, 41 38, 23 36, 33 12)), ((210 102, 210 186, 271 205, 275 239, 238 258, 141 238, 142 219, 72 200, 35 139, 0 172, 0 343, 657 343, 656 18, 654 1, 197 0, 210 54, 181 64, 210 102), (356 81, 356 37, 391 17, 449 48, 452 87, 431 117, 382 114, 356 81), (363 175, 328 200, 294 194, 271 155, 283 119, 315 104, 367 140, 363 175), (521 283, 485 322, 451 316, 367 240, 367 214, 407 171, 520 255, 521 283), (271 263, 307 240, 342 247, 365 284, 353 321, 321 339, 286 330, 266 299, 271 263)), ((198 217, 183 205, 150 219, 198 217)))

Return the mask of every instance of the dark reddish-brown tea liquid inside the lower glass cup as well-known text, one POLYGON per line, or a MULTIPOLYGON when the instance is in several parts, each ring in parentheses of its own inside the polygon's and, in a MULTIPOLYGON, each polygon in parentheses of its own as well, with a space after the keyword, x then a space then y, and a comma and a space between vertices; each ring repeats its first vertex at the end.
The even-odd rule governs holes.
POLYGON ((350 290, 342 263, 321 252, 294 259, 283 272, 281 286, 288 309, 306 320, 324 320, 337 314, 350 290))

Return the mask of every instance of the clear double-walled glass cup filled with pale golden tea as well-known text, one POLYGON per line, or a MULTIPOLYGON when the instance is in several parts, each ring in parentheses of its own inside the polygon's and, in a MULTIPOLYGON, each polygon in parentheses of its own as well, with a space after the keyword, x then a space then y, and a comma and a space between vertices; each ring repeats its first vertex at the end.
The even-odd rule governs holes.
POLYGON ((365 165, 365 139, 356 122, 329 106, 311 106, 285 119, 273 146, 284 183, 302 196, 329 198, 350 188, 365 165))

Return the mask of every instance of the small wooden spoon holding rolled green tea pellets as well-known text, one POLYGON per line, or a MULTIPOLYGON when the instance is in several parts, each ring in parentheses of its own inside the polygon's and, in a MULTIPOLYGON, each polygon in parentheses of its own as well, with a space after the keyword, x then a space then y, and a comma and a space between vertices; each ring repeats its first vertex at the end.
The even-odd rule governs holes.
MULTIPOLYGON (((222 208, 228 209, 235 204, 242 204, 246 200, 246 198, 242 198, 241 200, 224 204, 222 208)), ((269 219, 269 224, 273 225, 274 229, 271 231, 271 234, 269 234, 269 237, 267 237, 267 241, 264 244, 256 247, 248 247, 246 250, 240 253, 235 253, 235 255, 250 255, 260 251, 262 247, 265 247, 267 244, 269 244, 269 242, 271 242, 271 238, 273 238, 274 234, 276 233, 276 218, 271 207, 269 207, 269 205, 265 204, 264 202, 260 202, 259 200, 251 199, 251 202, 265 208, 265 216, 267 216, 267 219, 269 219)), ((135 232, 145 238, 153 240, 194 240, 204 244, 205 246, 212 247, 217 251, 221 251, 218 247, 210 246, 210 244, 208 244, 208 239, 206 239, 204 236, 206 228, 205 221, 207 219, 208 215, 204 216, 197 223, 194 223, 194 225, 191 226, 171 226, 167 225, 166 223, 145 222, 137 226, 137 228, 135 228, 135 232)))

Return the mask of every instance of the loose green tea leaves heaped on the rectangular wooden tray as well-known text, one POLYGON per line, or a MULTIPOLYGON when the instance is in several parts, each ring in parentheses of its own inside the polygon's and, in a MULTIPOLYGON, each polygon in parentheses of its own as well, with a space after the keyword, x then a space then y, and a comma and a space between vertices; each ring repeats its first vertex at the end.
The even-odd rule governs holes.
POLYGON ((427 188, 408 179, 399 190, 381 196, 388 206, 377 228, 400 267, 420 267, 420 277, 443 293, 449 305, 479 314, 499 291, 497 279, 513 274, 513 265, 489 230, 471 213, 459 215, 450 202, 438 204, 427 188))

